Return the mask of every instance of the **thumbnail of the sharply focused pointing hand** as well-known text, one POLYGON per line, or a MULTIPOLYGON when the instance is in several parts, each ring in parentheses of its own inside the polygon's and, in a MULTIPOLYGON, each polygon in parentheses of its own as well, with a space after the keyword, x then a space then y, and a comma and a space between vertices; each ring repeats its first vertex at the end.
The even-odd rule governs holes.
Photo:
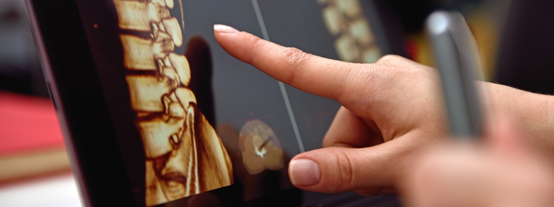
POLYGON ((321 179, 319 165, 310 159, 296 159, 290 162, 290 182, 293 185, 315 185, 321 179))

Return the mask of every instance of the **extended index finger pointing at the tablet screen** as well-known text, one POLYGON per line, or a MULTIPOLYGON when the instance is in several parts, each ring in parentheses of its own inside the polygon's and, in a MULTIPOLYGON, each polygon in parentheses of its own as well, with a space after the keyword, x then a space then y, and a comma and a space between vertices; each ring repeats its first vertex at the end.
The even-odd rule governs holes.
POLYGON ((235 58, 285 84, 330 99, 340 98, 348 80, 355 80, 352 77, 360 75, 363 67, 271 43, 225 25, 214 25, 214 35, 219 45, 235 58))

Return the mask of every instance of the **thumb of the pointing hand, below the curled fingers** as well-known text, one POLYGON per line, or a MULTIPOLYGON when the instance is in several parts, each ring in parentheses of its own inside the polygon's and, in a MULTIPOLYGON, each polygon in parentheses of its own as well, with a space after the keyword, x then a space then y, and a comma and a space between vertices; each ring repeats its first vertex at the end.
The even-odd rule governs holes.
POLYGON ((418 152, 411 136, 367 148, 328 147, 295 156, 289 177, 297 188, 340 193, 372 187, 393 187, 407 167, 408 154, 418 152))

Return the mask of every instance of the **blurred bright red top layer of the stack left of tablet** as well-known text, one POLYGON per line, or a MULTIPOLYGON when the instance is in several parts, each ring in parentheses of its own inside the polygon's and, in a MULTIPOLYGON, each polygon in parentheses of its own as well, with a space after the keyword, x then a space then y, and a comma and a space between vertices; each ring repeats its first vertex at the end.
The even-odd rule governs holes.
POLYGON ((0 156, 63 147, 49 99, 0 91, 0 156))

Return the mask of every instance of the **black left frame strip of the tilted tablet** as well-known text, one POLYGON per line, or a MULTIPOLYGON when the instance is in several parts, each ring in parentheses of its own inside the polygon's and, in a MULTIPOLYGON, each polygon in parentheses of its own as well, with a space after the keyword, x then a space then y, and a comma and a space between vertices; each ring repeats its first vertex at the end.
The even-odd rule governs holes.
POLYGON ((83 204, 136 205, 75 1, 25 3, 83 204))

